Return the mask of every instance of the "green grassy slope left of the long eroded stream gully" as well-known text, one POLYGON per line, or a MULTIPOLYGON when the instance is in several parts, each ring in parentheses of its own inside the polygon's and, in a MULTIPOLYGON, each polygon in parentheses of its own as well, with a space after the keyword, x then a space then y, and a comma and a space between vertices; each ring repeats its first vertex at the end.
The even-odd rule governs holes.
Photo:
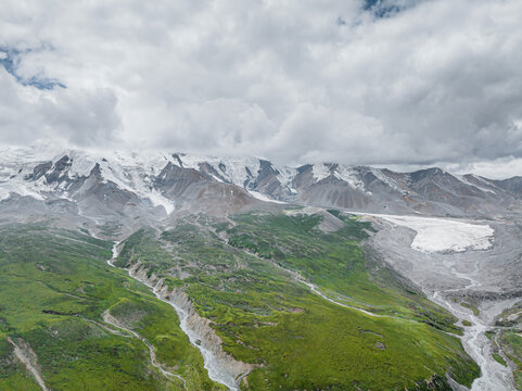
POLYGON ((107 310, 152 343, 190 390, 222 389, 207 378, 174 310, 106 264, 111 247, 47 225, 0 227, 0 390, 40 390, 8 338, 27 356, 34 352, 53 391, 182 390, 181 380, 151 365, 141 340, 103 321, 107 310))

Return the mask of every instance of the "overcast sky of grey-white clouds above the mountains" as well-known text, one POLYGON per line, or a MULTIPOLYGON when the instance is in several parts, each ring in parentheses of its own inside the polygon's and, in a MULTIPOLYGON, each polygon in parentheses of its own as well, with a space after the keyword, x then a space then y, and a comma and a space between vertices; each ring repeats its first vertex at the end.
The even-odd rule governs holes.
POLYGON ((3 0, 0 144, 522 175, 520 0, 3 0))

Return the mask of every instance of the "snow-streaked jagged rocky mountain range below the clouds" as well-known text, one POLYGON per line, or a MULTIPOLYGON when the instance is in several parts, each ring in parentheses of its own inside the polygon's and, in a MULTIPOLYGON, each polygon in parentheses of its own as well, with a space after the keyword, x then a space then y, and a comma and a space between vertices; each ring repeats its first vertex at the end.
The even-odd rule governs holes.
POLYGON ((29 207, 138 224, 173 212, 228 214, 267 201, 372 213, 495 217, 518 212, 522 179, 493 180, 441 168, 395 173, 336 163, 277 167, 262 159, 181 153, 66 151, 50 157, 3 149, 0 207, 29 207), (30 198, 31 200, 27 200, 30 198), (37 201, 37 202, 35 202, 37 201))

